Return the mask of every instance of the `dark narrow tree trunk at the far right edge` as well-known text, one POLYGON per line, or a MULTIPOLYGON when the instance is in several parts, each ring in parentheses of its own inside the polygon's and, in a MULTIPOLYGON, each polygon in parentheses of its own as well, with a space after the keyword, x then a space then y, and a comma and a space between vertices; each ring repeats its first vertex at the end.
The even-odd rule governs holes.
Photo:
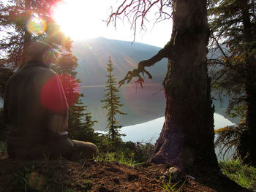
POLYGON ((244 50, 246 53, 246 131, 241 137, 240 155, 241 158, 245 158, 244 162, 256 166, 256 58, 252 55, 254 47, 249 46, 254 41, 254 35, 252 34, 253 27, 249 15, 249 2, 241 1, 241 3, 241 7, 243 7, 244 43, 247 46, 244 50))

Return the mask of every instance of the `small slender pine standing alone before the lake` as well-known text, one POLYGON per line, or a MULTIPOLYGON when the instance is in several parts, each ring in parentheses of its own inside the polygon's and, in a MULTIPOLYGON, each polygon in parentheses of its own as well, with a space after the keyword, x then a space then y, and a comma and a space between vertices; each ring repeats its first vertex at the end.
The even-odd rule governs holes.
POLYGON ((116 114, 120 115, 126 115, 126 113, 121 112, 119 110, 119 107, 123 106, 121 104, 121 101, 119 100, 120 97, 117 96, 117 93, 119 92, 116 88, 116 78, 113 76, 113 64, 111 59, 109 58, 108 64, 107 64, 107 72, 109 73, 106 75, 108 77, 108 80, 106 81, 107 85, 105 86, 105 98, 102 100, 102 102, 105 102, 105 106, 102 107, 103 109, 108 110, 107 114, 107 120, 108 120, 108 137, 112 141, 116 141, 116 139, 120 139, 121 136, 124 134, 119 133, 119 129, 122 126, 118 125, 118 121, 116 120, 116 114))

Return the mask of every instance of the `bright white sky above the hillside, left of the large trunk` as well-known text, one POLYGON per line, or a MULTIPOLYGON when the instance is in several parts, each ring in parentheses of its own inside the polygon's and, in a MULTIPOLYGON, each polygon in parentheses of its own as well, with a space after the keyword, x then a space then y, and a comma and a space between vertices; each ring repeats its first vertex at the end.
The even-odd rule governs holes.
MULTIPOLYGON (((133 41, 134 31, 127 20, 124 22, 121 19, 118 20, 116 28, 113 23, 107 27, 104 21, 111 13, 110 7, 116 10, 122 1, 65 0, 66 3, 53 8, 53 18, 61 26, 61 31, 75 41, 97 37, 133 41)), ((157 7, 148 13, 148 22, 145 23, 147 30, 141 30, 138 27, 135 42, 163 47, 170 40, 172 20, 163 20, 154 25, 155 12, 157 7)))

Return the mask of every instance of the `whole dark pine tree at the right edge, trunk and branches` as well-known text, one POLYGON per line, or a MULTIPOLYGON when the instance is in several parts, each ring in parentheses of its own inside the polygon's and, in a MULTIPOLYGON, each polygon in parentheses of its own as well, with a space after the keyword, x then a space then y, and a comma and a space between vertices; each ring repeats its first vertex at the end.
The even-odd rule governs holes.
MULTIPOLYGON (((256 3, 252 0, 210 1, 210 27, 214 39, 227 47, 213 63, 214 88, 230 96, 227 112, 245 118, 245 131, 238 147, 241 158, 256 165, 256 3), (244 110, 245 112, 243 112, 244 110)), ((219 46, 221 47, 221 46, 219 46)), ((241 124, 244 124, 243 120, 241 124)), ((242 125, 241 125, 242 126, 242 125)))

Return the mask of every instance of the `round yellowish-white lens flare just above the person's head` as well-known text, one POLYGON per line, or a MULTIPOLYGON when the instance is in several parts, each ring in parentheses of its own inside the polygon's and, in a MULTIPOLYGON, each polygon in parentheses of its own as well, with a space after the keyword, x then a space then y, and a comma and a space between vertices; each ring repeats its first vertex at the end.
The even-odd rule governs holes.
POLYGON ((42 18, 38 18, 35 15, 29 18, 29 22, 26 25, 27 30, 31 34, 42 34, 46 30, 46 22, 42 18))

